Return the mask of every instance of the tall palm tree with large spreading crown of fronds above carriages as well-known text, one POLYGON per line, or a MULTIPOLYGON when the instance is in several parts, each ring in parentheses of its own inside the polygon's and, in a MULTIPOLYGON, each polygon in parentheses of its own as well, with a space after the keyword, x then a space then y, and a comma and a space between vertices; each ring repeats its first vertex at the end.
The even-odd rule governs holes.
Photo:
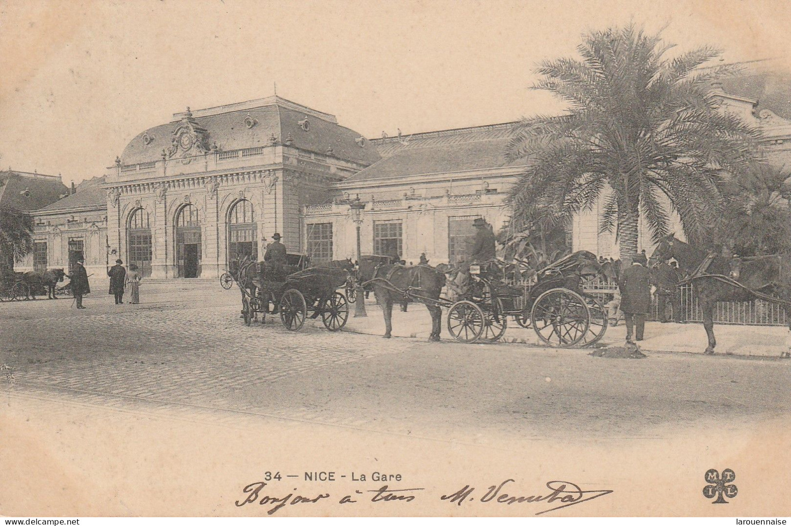
POLYGON ((640 214, 654 240, 669 233, 673 211, 687 238, 705 238, 723 203, 723 172, 744 172, 759 132, 718 111, 712 82, 738 70, 702 67, 720 50, 668 58, 671 47, 628 25, 585 35, 581 59, 541 63, 534 89, 569 108, 522 119, 509 142, 509 160, 527 165, 509 194, 517 230, 536 203, 570 225, 604 199, 600 232, 615 229, 623 255, 637 253, 640 214))

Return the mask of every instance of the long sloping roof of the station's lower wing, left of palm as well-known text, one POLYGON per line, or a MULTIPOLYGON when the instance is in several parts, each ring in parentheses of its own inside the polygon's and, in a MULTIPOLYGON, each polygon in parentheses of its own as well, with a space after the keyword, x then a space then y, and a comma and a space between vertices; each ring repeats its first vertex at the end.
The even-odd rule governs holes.
POLYGON ((349 181, 387 179, 430 173, 453 173, 520 165, 505 159, 505 146, 515 123, 431 131, 374 139, 381 161, 349 181))

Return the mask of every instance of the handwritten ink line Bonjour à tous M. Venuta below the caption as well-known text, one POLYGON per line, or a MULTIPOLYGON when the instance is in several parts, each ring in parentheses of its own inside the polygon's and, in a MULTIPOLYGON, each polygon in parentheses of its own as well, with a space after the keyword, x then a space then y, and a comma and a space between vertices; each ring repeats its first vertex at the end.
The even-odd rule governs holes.
MULTIPOLYGON (((441 501, 449 501, 462 505, 465 501, 481 501, 483 503, 495 502, 498 504, 512 505, 512 504, 535 504, 546 503, 551 504, 553 507, 543 509, 536 515, 543 515, 557 509, 567 508, 569 506, 581 504, 582 502, 592 501, 594 498, 599 498, 607 494, 611 494, 612 490, 583 490, 573 482, 563 482, 561 480, 552 480, 547 482, 547 494, 545 495, 522 495, 517 496, 505 493, 505 486, 511 482, 516 482, 514 479, 506 479, 498 485, 489 486, 486 493, 481 498, 477 498, 475 494, 475 487, 469 484, 465 485, 460 490, 453 493, 445 494, 440 497, 441 501), (475 495, 475 496, 474 496, 475 495)), ((267 487, 267 482, 252 482, 244 486, 242 492, 245 494, 244 498, 236 501, 238 507, 248 504, 258 504, 271 506, 267 509, 267 514, 272 515, 277 513, 286 505, 303 505, 303 504, 316 504, 316 502, 323 501, 324 499, 331 498, 328 493, 301 495, 295 494, 297 488, 288 494, 270 495, 263 494, 264 488, 267 487)), ((338 501, 339 504, 354 504, 361 498, 370 496, 370 502, 411 502, 417 497, 418 492, 424 491, 426 488, 403 488, 391 489, 387 484, 381 486, 377 490, 354 490, 354 494, 344 495, 338 501), (371 496, 370 494, 373 494, 371 496)), ((509 489, 510 491, 510 489, 509 489)), ((267 490, 267 493, 270 493, 267 490)), ((283 492, 286 493, 286 492, 283 492)))

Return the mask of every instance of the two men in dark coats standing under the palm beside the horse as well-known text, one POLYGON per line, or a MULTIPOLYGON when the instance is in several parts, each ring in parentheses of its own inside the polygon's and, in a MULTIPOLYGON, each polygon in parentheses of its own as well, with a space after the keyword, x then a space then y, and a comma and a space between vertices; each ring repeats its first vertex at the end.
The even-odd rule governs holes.
POLYGON ((621 272, 618 291, 607 305, 610 324, 618 323, 619 311, 626 321, 626 342, 640 341, 645 335, 645 318, 651 310, 651 287, 657 290, 657 305, 660 322, 686 323, 678 284, 683 279, 675 261, 662 261, 649 270, 645 251, 631 258, 631 265, 621 272), (672 308, 672 319, 665 311, 668 301, 672 308))

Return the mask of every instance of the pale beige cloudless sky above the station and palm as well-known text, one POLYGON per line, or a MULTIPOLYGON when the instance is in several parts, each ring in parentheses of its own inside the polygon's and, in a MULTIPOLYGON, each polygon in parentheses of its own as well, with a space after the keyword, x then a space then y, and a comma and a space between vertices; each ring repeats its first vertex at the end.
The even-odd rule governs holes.
POLYGON ((275 83, 372 138, 558 113, 536 65, 630 21, 726 62, 791 49, 791 2, 0 0, 0 168, 102 176, 173 113, 275 83))

